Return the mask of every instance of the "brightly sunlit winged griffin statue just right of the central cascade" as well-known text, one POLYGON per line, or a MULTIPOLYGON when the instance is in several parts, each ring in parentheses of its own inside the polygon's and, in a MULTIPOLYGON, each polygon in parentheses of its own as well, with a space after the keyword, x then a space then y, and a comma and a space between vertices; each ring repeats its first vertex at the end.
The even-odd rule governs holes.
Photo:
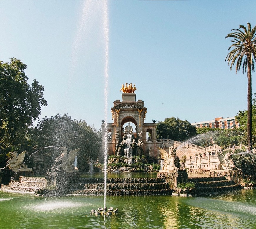
POLYGON ((179 158, 176 156, 177 147, 169 147, 169 154, 160 147, 157 147, 157 149, 159 149, 161 159, 164 161, 162 170, 178 170, 181 168, 179 158))

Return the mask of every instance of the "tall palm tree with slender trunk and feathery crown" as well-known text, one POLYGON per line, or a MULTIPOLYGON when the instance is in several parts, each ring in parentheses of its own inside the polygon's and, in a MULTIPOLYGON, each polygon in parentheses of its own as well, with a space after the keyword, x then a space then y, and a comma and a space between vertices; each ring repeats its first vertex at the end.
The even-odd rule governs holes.
POLYGON ((230 71, 232 66, 236 62, 236 73, 240 70, 242 65, 243 73, 247 71, 248 78, 248 117, 247 117, 247 137, 248 148, 252 150, 252 71, 254 72, 254 60, 256 60, 256 25, 252 29, 251 24, 247 23, 248 29, 240 25, 239 29, 232 29, 232 33, 227 34, 227 37, 232 37, 232 45, 228 48, 233 48, 226 56, 225 61, 228 61, 230 65, 230 71))

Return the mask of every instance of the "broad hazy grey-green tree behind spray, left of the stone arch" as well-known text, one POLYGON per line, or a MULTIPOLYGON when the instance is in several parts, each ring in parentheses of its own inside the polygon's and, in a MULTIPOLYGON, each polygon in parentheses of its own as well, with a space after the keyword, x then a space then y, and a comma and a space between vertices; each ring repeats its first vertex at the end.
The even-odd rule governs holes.
MULTIPOLYGON (((38 145, 39 150, 47 146, 67 147, 68 152, 81 148, 77 156, 80 171, 87 169, 86 160, 100 156, 101 133, 86 121, 71 119, 68 114, 57 114, 40 120, 38 125, 31 129, 30 140, 38 145)), ((56 156, 59 156, 59 151, 52 148, 41 151, 49 155, 49 168, 56 156)))

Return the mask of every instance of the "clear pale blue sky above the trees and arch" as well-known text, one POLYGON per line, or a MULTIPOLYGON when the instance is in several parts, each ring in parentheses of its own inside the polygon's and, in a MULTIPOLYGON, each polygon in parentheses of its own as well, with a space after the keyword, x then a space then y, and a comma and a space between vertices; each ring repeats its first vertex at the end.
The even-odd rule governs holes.
MULTIPOLYGON (((247 109, 247 75, 230 71, 225 36, 256 24, 256 1, 108 1, 110 108, 136 83, 145 122, 232 117, 247 109)), ((102 1, 0 1, 0 60, 16 57, 44 86, 42 117, 105 119, 102 1), (88 7, 85 7, 88 6, 88 7)), ((252 91, 256 92, 255 75, 252 91)))

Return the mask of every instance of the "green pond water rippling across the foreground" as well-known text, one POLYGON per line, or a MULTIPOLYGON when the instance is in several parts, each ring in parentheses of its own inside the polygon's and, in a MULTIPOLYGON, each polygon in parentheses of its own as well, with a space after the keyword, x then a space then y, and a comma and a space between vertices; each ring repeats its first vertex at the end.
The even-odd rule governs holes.
POLYGON ((107 207, 119 213, 90 215, 103 204, 103 196, 0 191, 0 228, 256 228, 256 190, 208 197, 107 196, 107 207))

